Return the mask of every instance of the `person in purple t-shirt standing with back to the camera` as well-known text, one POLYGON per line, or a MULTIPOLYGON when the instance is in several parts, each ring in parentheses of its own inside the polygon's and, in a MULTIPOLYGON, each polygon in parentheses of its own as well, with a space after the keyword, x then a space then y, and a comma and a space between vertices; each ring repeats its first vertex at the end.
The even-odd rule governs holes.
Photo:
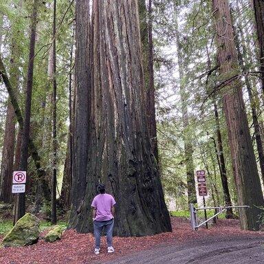
POLYGON ((103 228, 107 234, 107 252, 111 253, 115 251, 113 249, 115 199, 113 199, 111 195, 105 193, 104 184, 99 184, 97 189, 100 194, 96 195, 91 203, 91 207, 94 209, 94 237, 96 239, 96 248, 94 249, 94 253, 100 253, 100 241, 103 228))

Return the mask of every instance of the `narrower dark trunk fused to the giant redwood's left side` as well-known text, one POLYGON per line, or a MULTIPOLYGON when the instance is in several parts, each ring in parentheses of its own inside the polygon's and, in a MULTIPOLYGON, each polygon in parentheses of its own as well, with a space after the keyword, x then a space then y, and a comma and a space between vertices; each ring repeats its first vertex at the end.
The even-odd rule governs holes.
MULTIPOLYGON (((77 213, 78 209, 83 205, 87 189, 88 137, 91 108, 89 102, 89 94, 91 93, 89 21, 89 1, 76 0, 76 102, 72 161, 72 210, 69 226, 82 231, 87 226, 89 219, 89 217, 84 219, 82 214, 77 213), (80 219, 80 217, 82 218, 80 219)), ((91 181, 88 182, 90 184, 91 181)), ((85 208, 85 210, 88 210, 88 208, 85 208)))

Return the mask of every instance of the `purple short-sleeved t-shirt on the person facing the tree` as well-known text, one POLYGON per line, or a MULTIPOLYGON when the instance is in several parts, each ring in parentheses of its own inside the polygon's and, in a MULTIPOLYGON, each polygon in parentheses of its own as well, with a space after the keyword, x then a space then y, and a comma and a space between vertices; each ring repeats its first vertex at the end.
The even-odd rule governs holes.
POLYGON ((109 221, 113 218, 111 207, 115 204, 115 199, 107 193, 96 195, 91 206, 96 208, 96 221, 109 221))

